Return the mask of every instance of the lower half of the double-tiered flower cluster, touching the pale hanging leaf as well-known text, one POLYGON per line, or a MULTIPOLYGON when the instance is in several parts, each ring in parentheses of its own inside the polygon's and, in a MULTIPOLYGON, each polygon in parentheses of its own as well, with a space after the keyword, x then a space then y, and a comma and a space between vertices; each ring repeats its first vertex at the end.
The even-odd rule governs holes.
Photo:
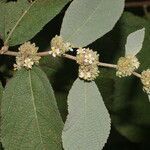
POLYGON ((98 75, 99 75, 99 70, 98 70, 97 65, 89 65, 89 66, 80 65, 79 66, 79 77, 81 79, 92 81, 96 79, 98 75))

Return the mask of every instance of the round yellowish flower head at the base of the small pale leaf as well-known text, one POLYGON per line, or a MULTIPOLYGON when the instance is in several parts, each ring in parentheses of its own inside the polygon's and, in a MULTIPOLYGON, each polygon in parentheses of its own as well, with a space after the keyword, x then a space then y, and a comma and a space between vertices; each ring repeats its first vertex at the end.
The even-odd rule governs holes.
POLYGON ((118 77, 130 76, 136 69, 139 68, 139 61, 136 56, 127 55, 125 57, 119 58, 117 62, 117 72, 118 77))

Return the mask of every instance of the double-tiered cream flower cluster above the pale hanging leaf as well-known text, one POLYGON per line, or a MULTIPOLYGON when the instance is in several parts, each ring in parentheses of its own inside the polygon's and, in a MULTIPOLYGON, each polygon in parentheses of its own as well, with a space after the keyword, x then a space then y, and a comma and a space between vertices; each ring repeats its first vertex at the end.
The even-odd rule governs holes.
POLYGON ((76 56, 79 66, 79 77, 92 81, 99 75, 99 55, 89 48, 79 48, 76 56))

